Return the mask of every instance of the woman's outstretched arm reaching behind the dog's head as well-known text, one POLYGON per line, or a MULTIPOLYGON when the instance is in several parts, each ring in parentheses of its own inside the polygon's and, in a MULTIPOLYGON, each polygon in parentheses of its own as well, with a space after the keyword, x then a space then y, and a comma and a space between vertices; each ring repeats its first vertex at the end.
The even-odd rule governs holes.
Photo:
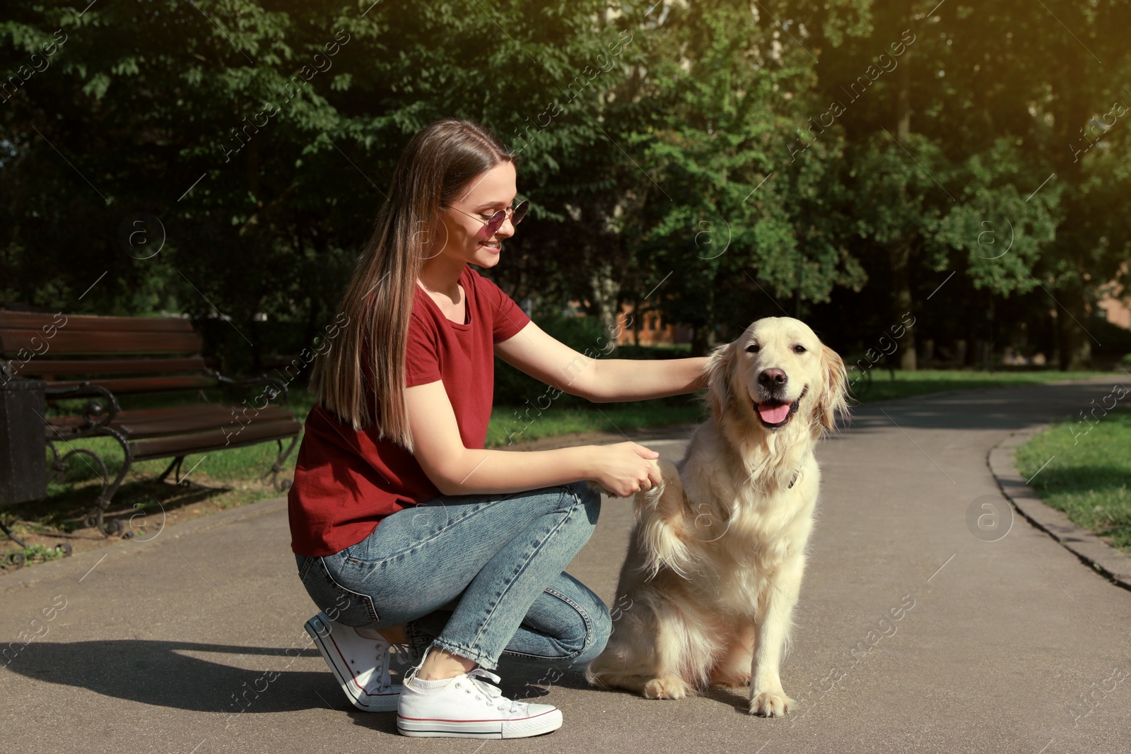
MULTIPOLYGON (((603 348, 601 343, 594 347, 603 348)), ((706 356, 647 361, 590 358, 534 322, 512 338, 495 344, 495 353, 546 384, 598 404, 679 396, 707 387, 706 356)))

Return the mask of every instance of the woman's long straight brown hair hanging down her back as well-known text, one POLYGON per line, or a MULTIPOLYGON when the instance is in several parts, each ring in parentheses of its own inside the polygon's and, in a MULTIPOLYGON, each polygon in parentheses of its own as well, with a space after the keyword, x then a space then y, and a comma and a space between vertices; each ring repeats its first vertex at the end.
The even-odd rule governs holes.
POLYGON ((503 162, 515 163, 516 156, 489 129, 456 119, 421 129, 400 154, 388 199, 342 298, 346 328, 318 355, 310 379, 318 402, 355 431, 375 421, 379 439, 412 452, 405 347, 416 278, 442 228, 441 206, 503 162))

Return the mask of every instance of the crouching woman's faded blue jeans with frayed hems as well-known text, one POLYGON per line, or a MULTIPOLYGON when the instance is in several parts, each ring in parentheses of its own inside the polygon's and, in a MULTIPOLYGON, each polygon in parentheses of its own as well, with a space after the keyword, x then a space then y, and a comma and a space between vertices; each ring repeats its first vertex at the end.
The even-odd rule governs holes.
POLYGON ((604 649, 608 608, 562 572, 597 523, 601 495, 579 482, 500 495, 441 495, 383 519, 334 555, 296 555, 322 610, 354 627, 405 625, 430 644, 498 667, 579 668, 604 649))

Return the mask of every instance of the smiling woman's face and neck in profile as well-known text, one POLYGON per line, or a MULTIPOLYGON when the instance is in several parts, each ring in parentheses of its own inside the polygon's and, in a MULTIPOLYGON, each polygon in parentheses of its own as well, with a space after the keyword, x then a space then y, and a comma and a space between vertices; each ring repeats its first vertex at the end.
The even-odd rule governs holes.
POLYGON ((502 240, 515 235, 515 226, 508 217, 487 239, 483 237, 484 226, 497 211, 509 208, 517 193, 512 163, 499 163, 477 175, 461 196, 440 208, 442 236, 437 240, 438 248, 433 248, 431 255, 494 267, 499 262, 502 240))

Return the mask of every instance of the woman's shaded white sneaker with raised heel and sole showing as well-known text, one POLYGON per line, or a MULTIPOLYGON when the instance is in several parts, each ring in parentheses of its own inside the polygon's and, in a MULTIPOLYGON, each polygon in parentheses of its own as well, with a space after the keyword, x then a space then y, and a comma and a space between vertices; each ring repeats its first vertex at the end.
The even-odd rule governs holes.
POLYGON ((307 633, 354 707, 364 712, 397 709, 402 687, 389 677, 389 642, 361 636, 326 613, 307 621, 307 633))

